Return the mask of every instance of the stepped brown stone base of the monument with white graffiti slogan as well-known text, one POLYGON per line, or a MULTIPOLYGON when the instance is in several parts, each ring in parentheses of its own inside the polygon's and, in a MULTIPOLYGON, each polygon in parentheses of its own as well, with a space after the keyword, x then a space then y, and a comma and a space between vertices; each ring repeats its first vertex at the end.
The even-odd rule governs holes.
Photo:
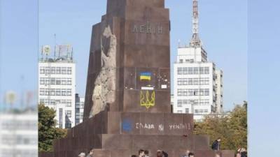
POLYGON ((68 130, 54 142, 54 153, 41 157, 76 157, 94 149, 94 157, 137 155, 139 149, 155 156, 158 149, 169 157, 183 156, 186 149, 196 157, 233 157, 234 151, 212 151, 207 135, 193 134, 193 114, 100 112, 68 130))

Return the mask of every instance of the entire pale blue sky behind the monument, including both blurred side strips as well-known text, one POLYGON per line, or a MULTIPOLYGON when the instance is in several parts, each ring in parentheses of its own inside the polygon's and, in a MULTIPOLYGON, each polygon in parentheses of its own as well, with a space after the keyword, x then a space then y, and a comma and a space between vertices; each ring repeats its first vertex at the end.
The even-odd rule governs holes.
MULTIPOLYGON (((199 3, 204 48, 209 60, 224 71, 225 108, 247 100, 248 87, 248 149, 253 157, 280 155, 279 6, 278 0, 199 3)), ((191 2, 166 0, 166 7, 172 22, 173 62, 178 40, 190 40, 191 2)), ((100 0, 0 0, 0 103, 5 91, 20 95, 37 90, 38 45, 54 44, 54 33, 57 43, 74 47, 77 91, 83 95, 91 28, 105 8, 100 0)))

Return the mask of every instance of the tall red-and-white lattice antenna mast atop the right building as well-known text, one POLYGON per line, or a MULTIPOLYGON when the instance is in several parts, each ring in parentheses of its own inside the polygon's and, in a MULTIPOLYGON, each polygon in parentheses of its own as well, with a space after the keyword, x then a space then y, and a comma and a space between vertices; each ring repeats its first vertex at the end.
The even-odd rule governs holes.
POLYGON ((200 37, 198 36, 198 0, 193 0, 193 38, 190 40, 191 46, 201 46, 200 37))

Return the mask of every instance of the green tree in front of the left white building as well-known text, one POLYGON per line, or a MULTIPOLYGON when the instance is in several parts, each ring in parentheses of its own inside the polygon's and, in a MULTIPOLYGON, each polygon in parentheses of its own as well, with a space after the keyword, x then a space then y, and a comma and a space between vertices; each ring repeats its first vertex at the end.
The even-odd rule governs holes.
POLYGON ((55 128, 55 110, 38 105, 38 149, 52 151, 52 141, 66 136, 66 129, 55 128))

